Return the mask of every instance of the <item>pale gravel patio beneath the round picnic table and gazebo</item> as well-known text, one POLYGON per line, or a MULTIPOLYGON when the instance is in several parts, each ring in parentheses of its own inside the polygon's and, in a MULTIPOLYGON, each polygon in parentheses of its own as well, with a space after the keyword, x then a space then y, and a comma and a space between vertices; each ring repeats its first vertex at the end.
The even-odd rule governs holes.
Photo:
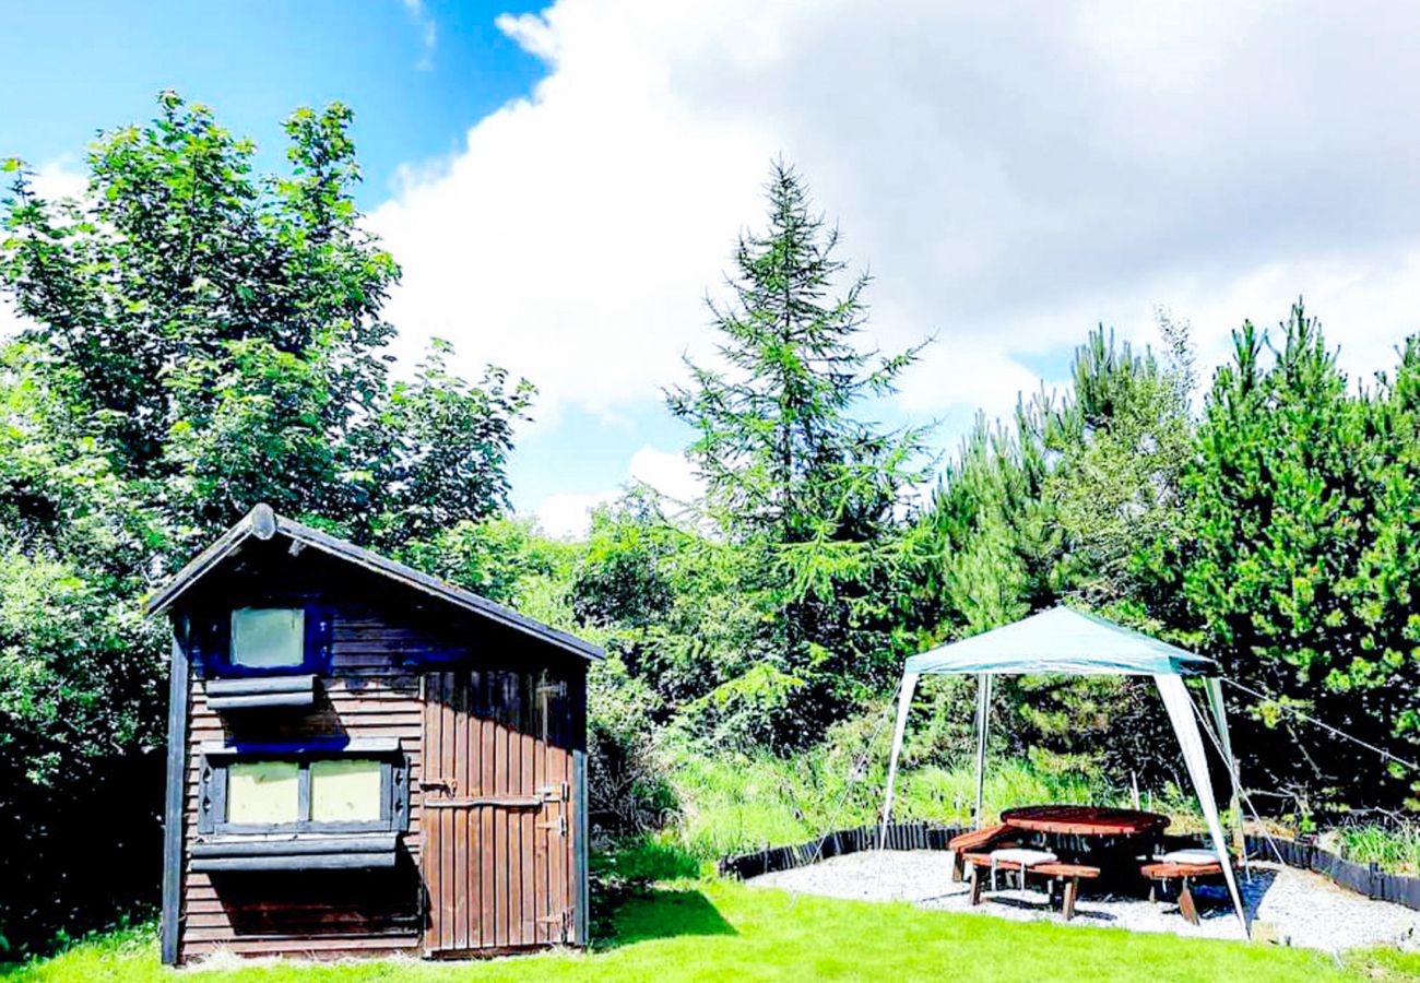
MULTIPOLYGON (((1062 922, 1047 906, 1044 891, 990 892, 978 908, 968 898, 970 884, 951 882, 951 854, 934 849, 863 851, 834 857, 788 871, 750 878, 747 884, 784 891, 856 901, 907 901, 922 908, 977 912, 1014 920, 1062 922)), ((1242 903, 1254 932, 1271 930, 1287 945, 1342 952, 1358 946, 1420 947, 1420 912, 1383 901, 1370 901, 1309 871, 1277 864, 1252 864, 1251 875, 1238 876, 1242 903)), ((1189 925, 1174 903, 1143 898, 1081 895, 1071 925, 1120 928, 1133 932, 1172 932, 1196 939, 1241 939, 1223 891, 1194 889, 1201 925, 1189 925)))

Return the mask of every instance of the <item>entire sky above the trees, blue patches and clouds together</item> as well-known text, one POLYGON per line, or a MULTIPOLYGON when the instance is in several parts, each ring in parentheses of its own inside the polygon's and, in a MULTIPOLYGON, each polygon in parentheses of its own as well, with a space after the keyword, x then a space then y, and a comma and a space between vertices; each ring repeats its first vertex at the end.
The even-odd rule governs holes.
POLYGON ((55 180, 162 88, 267 166, 287 112, 348 102, 398 351, 538 385, 511 477, 554 533, 632 477, 694 492, 662 391, 714 358, 780 156, 873 274, 865 344, 937 338, 873 412, 946 449, 1096 324, 1149 344, 1164 308, 1207 375, 1305 294, 1358 376, 1420 327, 1416 4, 16 3, 0 64, 0 155, 55 180))

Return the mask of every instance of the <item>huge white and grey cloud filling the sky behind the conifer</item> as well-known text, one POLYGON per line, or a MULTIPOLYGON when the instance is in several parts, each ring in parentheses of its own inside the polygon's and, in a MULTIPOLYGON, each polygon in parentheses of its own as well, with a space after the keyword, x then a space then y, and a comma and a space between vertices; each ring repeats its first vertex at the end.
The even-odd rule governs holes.
MULTIPOLYGON (((1305 293, 1369 371, 1420 260, 1420 7, 561 0, 500 27, 548 65, 373 226, 410 341, 542 389, 653 396, 713 340, 736 233, 784 153, 870 261, 902 406, 1008 409, 1093 324, 1193 321, 1207 358, 1305 293)), ((409 342, 406 342, 409 344, 409 342)))

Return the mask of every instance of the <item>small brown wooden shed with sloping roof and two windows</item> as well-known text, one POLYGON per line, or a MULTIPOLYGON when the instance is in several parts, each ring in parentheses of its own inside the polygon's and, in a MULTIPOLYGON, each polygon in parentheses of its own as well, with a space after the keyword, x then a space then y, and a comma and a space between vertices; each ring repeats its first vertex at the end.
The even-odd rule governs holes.
POLYGON ((149 611, 163 962, 585 943, 596 646, 267 506, 149 611))

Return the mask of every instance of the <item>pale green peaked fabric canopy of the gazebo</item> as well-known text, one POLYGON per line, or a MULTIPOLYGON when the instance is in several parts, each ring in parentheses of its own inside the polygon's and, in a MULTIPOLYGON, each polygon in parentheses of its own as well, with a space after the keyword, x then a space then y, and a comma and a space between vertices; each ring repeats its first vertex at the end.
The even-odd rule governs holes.
POLYGON ((1211 676, 1217 663, 1103 618, 1059 607, 907 659, 907 672, 1211 676))

